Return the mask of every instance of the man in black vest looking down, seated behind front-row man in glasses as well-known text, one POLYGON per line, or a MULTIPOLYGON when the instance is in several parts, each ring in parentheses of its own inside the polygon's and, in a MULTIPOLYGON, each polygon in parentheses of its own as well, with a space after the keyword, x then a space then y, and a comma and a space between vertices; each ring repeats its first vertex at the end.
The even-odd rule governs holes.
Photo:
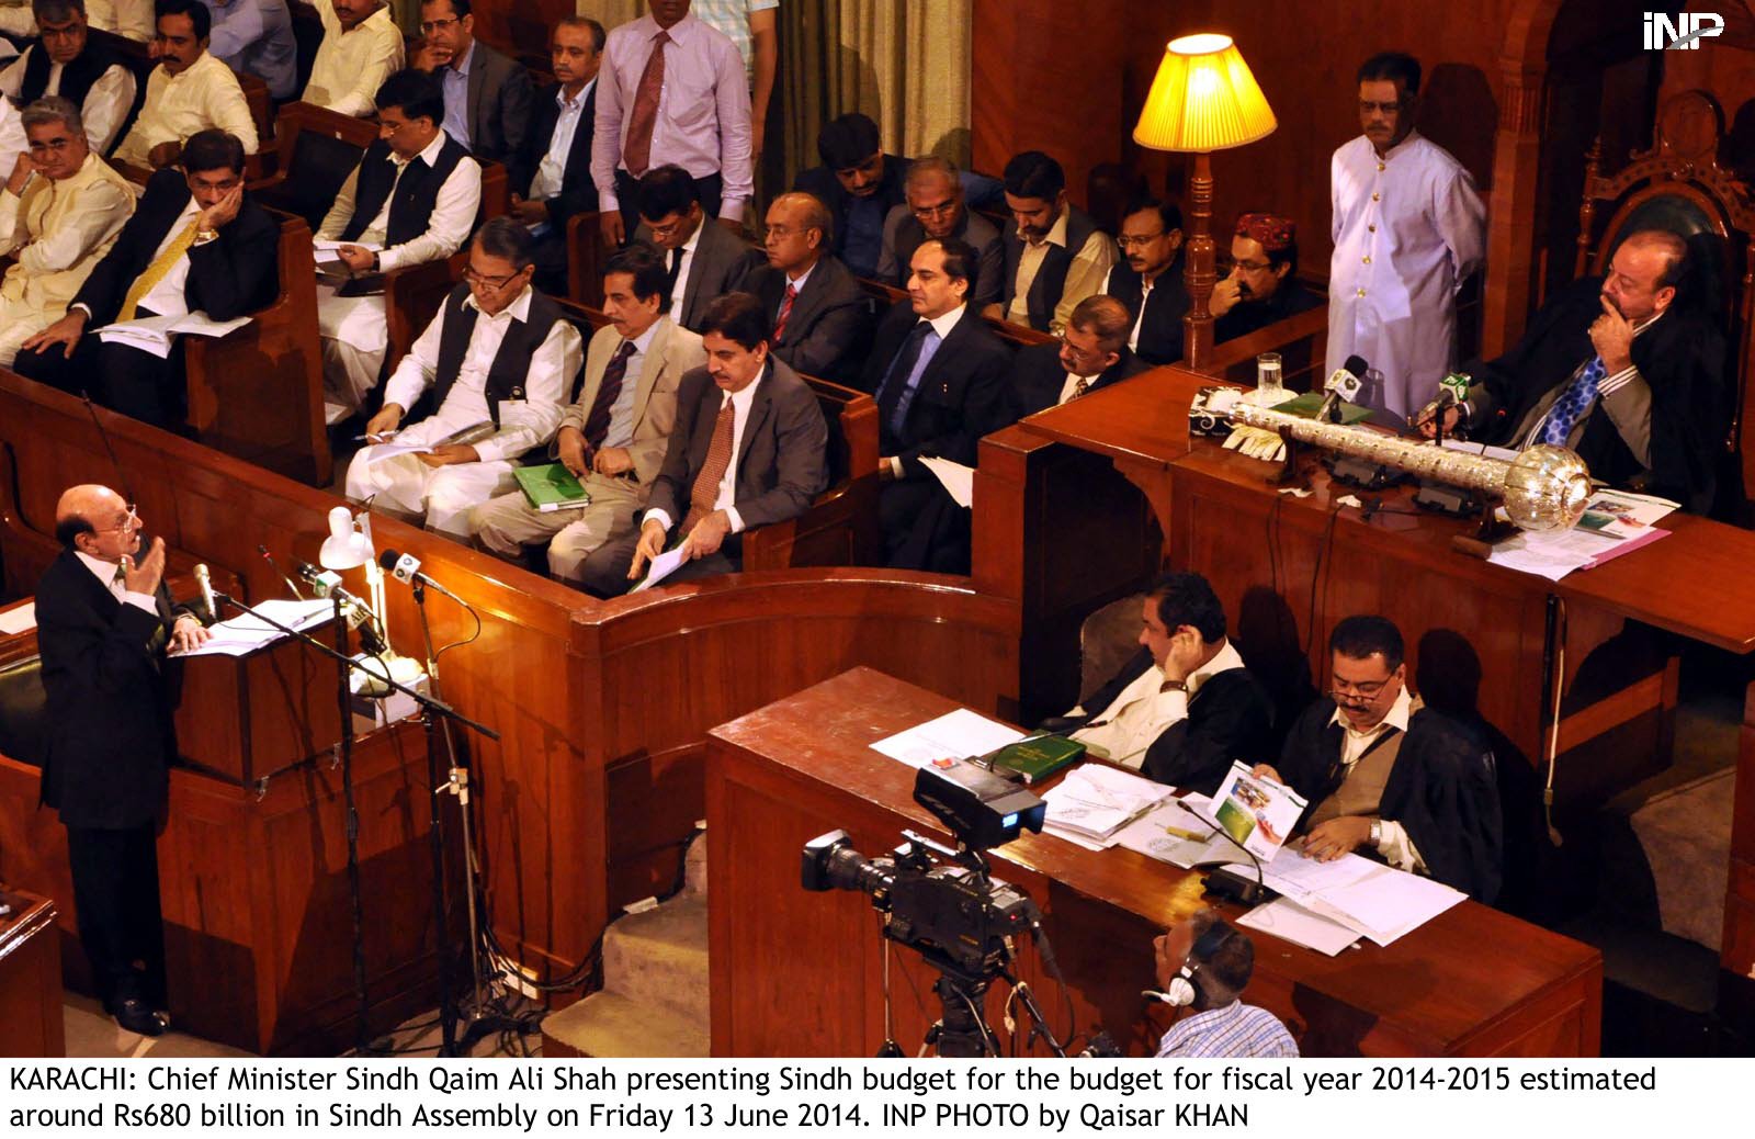
POLYGON ((377 142, 318 226, 318 330, 323 333, 323 400, 330 423, 365 402, 384 367, 384 297, 355 295, 346 277, 441 261, 469 240, 481 209, 481 167, 439 123, 439 81, 397 72, 377 90, 377 142))

